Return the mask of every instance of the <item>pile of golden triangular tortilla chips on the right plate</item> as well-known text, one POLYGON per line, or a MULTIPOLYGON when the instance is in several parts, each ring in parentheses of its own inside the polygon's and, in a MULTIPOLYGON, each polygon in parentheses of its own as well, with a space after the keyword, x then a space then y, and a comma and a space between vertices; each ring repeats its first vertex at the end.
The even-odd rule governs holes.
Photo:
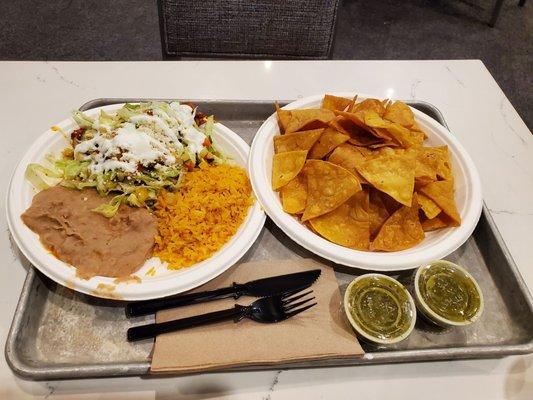
POLYGON ((406 104, 325 95, 320 109, 276 110, 272 188, 317 234, 399 251, 460 225, 448 148, 423 145, 406 104))

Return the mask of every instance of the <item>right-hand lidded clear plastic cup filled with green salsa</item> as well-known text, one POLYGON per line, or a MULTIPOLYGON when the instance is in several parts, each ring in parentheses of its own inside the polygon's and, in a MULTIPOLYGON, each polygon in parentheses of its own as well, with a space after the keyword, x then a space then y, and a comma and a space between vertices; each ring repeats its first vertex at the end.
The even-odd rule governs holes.
POLYGON ((418 268, 414 278, 415 301, 422 315, 443 326, 464 326, 483 313, 483 294, 464 268, 445 260, 418 268))

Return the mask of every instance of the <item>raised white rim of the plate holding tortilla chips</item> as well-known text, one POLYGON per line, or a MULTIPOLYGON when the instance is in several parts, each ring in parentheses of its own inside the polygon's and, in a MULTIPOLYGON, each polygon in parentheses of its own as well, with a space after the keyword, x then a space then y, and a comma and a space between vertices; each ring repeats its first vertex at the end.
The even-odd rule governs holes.
MULTIPOLYGON (((335 96, 341 96, 341 97, 353 97, 354 95, 357 94, 359 99, 379 98, 376 96, 371 96, 371 95, 364 94, 364 93, 355 93, 355 92, 325 92, 325 93, 335 95, 335 96)), ((315 105, 312 105, 312 104, 322 100, 325 93, 315 94, 312 96, 307 96, 304 98, 297 99, 282 108, 290 110, 290 109, 303 108, 303 107, 309 107, 309 108, 316 107, 315 105)), ((275 127, 277 128, 277 122, 276 122, 277 117, 276 117, 275 112, 271 114, 264 121, 261 127, 258 129, 254 137, 254 140, 252 142, 252 145, 251 145, 249 162, 248 162, 249 176, 252 182, 252 187, 254 189, 254 192, 256 193, 258 200, 263 205, 263 208, 265 209, 267 215, 292 240, 294 240, 295 242, 297 242, 298 244, 300 244, 307 250, 325 259, 333 261, 337 264, 341 264, 341 265, 345 265, 345 266, 353 267, 357 269, 362 269, 362 270, 380 271, 380 272, 409 270, 409 269, 418 267, 420 264, 423 264, 424 262, 429 262, 434 259, 440 259, 440 258, 446 257, 448 254, 455 251, 464 242, 466 242, 466 240, 468 240, 468 238, 472 235, 472 232, 477 226, 477 223, 481 216, 482 206, 483 206, 481 179, 479 177, 479 173, 477 171, 477 168, 472 158, 470 157, 470 155, 468 154, 464 146, 462 146, 462 144, 458 141, 458 139, 454 137, 454 135, 450 132, 450 130, 442 126, 438 121, 434 120, 430 116, 415 109, 414 107, 410 106, 410 108, 411 110, 413 110, 418 120, 424 122, 425 124, 430 125, 433 130, 436 130, 439 132, 438 136, 442 135, 446 137, 447 140, 449 140, 449 142, 451 142, 451 144, 459 150, 459 152, 457 152, 455 156, 458 158, 459 157, 462 158, 462 161, 464 162, 464 165, 465 165, 465 168, 464 168, 465 175, 467 176, 467 180, 470 181, 470 185, 467 186, 465 190, 467 191, 467 193, 468 191, 470 191, 472 195, 471 205, 470 207, 466 207, 466 210, 468 211, 468 216, 469 216, 469 220, 468 220, 469 224, 466 225, 465 223, 463 223, 460 227, 448 228, 449 232, 451 232, 450 235, 454 235, 457 237, 457 239, 455 239, 454 242, 448 241, 447 246, 441 245, 439 248, 436 248, 438 249, 438 251, 433 250, 431 252, 431 248, 420 251, 420 253, 426 255, 425 257, 420 257, 419 255, 417 256, 416 254, 414 255, 405 254, 405 252, 412 252, 413 251, 412 249, 415 249, 416 246, 411 249, 403 250, 400 252, 389 252, 389 253, 387 252, 365 252, 365 251, 360 251, 360 250, 349 249, 347 247, 329 242, 328 240, 314 234, 308 228, 303 227, 303 225, 297 222, 294 217, 290 216, 289 214, 281 210, 280 205, 279 205, 279 197, 277 200, 277 204, 272 205, 272 203, 269 201, 271 200, 270 195, 275 195, 275 192, 272 191, 269 185, 262 185, 265 182, 265 180, 263 179, 260 180, 260 178, 263 178, 264 176, 266 176, 266 171, 264 171, 265 169, 264 165, 258 165, 258 164, 260 161, 264 161, 262 157, 259 156, 260 147, 265 145, 266 143, 265 139, 267 140, 271 139, 273 136, 271 131, 272 129, 275 129, 275 128, 272 128, 271 125, 274 124, 275 127), (252 159, 255 159, 256 162, 253 163, 252 159), (265 191, 267 191, 266 194, 265 194, 265 191), (452 231, 451 229, 454 229, 454 231, 452 231), (459 236, 460 233, 462 234, 459 236), (320 242, 320 245, 312 243, 315 241, 320 242), (402 252, 404 253, 401 254, 402 252), (399 260, 402 257, 403 257, 403 260, 399 260), (364 259, 364 261, 362 261, 362 259, 364 259)), ((276 134, 277 133, 274 133, 274 135, 276 134)), ((440 137, 439 137, 439 140, 445 141, 444 139, 441 139, 440 137)), ((444 143, 444 144, 450 146, 449 143, 444 143)), ((266 182, 269 182, 268 178, 266 179, 266 182)), ((464 219, 464 215, 462 215, 462 217, 464 219)))

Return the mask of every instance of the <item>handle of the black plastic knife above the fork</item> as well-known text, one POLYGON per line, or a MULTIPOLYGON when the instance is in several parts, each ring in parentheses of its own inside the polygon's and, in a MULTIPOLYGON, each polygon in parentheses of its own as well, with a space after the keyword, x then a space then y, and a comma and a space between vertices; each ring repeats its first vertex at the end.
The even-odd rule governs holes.
POLYGON ((160 310, 224 299, 232 296, 235 299, 238 299, 242 294, 241 290, 242 285, 234 282, 230 287, 210 290, 207 292, 187 293, 173 297, 164 297, 162 299, 137 301, 126 305, 126 316, 140 317, 141 315, 154 314, 160 310))

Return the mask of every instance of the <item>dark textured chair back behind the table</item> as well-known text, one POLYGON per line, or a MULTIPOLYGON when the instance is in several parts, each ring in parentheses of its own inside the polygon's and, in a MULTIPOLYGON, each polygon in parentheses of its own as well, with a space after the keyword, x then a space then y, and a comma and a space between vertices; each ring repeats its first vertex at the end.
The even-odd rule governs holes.
POLYGON ((330 57, 339 0, 159 0, 166 57, 330 57))

